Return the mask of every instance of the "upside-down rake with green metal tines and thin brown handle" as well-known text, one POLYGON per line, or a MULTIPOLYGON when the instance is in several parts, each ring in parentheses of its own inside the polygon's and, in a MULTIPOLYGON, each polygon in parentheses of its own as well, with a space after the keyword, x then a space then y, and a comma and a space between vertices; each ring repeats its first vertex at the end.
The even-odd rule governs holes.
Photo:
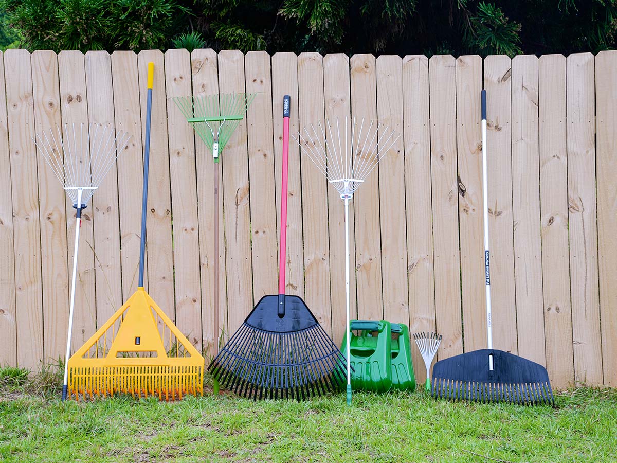
MULTIPOLYGON (((173 98, 180 112, 191 124, 195 133, 201 138, 205 146, 212 150, 214 161, 214 356, 218 355, 218 341, 220 340, 220 326, 218 322, 218 183, 219 161, 223 148, 230 141, 231 136, 244 119, 249 106, 254 101, 256 93, 223 93, 201 96, 177 96, 173 98)), ((218 394, 218 381, 214 382, 214 393, 218 394)))

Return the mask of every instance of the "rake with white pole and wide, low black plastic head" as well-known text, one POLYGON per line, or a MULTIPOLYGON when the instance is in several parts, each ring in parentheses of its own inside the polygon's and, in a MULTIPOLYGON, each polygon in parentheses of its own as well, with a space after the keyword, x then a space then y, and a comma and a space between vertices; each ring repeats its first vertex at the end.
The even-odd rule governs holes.
POLYGON ((486 90, 482 90, 482 202, 488 349, 444 359, 433 367, 431 394, 452 400, 553 404, 549 373, 540 364, 492 348, 491 271, 486 167, 486 90))

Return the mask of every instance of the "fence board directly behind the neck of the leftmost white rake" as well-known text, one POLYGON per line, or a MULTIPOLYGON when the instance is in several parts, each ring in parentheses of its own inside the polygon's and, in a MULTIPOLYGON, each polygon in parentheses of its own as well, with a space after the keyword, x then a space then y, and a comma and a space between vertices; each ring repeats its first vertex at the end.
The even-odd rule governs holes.
MULTIPOLYGON (((86 69, 80 51, 61 51, 58 54, 60 75, 60 111, 62 136, 88 127, 88 99, 86 96, 86 69), (67 131, 68 130, 68 131, 67 131)), ((77 155, 76 155, 77 156, 77 155)), ((83 162, 89 162, 90 150, 80 153, 83 162)), ((67 236, 75 236, 75 209, 73 201, 66 199, 67 236)), ((68 240, 72 243, 73 240, 68 240)), ((68 246, 68 272, 73 267, 73 246, 68 246)), ((92 203, 81 214, 80 246, 77 258, 77 286, 75 287, 75 312, 73 312, 72 350, 79 348, 94 334, 96 328, 96 283, 94 270, 94 226, 92 203)))

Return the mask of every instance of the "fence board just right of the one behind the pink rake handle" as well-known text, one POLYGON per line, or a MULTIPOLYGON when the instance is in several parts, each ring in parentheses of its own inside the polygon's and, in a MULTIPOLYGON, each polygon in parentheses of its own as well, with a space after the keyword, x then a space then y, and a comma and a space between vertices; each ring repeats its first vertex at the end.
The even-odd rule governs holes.
MULTIPOLYGON (((298 56, 297 63, 300 127, 310 128, 313 125, 319 134, 321 130, 318 125, 325 127, 323 58, 319 53, 302 53, 298 56)), ((305 129, 303 133, 306 133, 305 129)), ((321 140, 320 143, 325 146, 323 145, 325 141, 321 140)), ((328 284, 331 275, 326 212, 328 211, 329 185, 308 156, 302 156, 300 162, 302 166, 305 297, 313 315, 329 333, 332 331, 333 316, 330 306, 331 288, 328 284)), ((344 311, 345 305, 343 304, 343 314, 344 311)), ((345 325, 344 320, 345 317, 342 321, 343 326, 345 325)))

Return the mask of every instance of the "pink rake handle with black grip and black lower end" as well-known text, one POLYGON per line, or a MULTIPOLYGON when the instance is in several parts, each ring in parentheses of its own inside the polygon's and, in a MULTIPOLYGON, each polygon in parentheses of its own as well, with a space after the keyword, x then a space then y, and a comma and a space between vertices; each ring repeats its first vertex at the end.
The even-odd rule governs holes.
POLYGON ((283 163, 281 164, 281 245, 278 261, 278 316, 285 316, 285 255, 287 240, 287 171, 289 161, 289 104, 291 97, 283 97, 283 163))

